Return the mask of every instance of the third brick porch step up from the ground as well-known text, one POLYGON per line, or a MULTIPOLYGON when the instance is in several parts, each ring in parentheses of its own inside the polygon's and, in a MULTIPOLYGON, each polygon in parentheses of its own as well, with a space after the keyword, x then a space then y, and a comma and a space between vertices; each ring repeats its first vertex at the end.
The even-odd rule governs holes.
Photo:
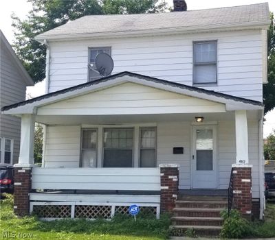
POLYGON ((175 217, 221 217, 224 208, 174 208, 175 217))

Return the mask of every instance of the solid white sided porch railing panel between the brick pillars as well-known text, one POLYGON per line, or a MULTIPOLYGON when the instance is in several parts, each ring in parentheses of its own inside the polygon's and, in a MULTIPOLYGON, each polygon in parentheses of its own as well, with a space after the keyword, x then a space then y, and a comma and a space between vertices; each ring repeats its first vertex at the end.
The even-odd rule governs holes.
POLYGON ((32 189, 160 191, 159 168, 34 168, 32 189))

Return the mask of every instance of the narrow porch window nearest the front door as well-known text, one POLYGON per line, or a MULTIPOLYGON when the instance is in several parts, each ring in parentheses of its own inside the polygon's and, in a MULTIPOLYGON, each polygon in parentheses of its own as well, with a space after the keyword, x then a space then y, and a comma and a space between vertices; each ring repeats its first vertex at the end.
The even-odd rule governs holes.
POLYGON ((155 128, 140 128, 140 167, 156 167, 155 128))

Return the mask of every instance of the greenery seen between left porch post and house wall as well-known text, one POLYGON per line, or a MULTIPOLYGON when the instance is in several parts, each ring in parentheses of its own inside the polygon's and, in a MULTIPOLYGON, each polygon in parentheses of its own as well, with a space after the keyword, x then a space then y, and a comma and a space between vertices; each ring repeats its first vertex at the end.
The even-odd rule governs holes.
POLYGON ((34 129, 34 163, 42 163, 43 125, 36 123, 34 129))

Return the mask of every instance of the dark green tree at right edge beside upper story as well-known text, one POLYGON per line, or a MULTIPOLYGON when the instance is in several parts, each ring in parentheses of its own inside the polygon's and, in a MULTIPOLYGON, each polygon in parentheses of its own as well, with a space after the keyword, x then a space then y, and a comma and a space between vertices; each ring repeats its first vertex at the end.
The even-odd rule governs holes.
POLYGON ((275 107, 275 25, 274 15, 270 14, 270 29, 267 32, 267 80, 263 85, 263 103, 265 113, 275 107))

